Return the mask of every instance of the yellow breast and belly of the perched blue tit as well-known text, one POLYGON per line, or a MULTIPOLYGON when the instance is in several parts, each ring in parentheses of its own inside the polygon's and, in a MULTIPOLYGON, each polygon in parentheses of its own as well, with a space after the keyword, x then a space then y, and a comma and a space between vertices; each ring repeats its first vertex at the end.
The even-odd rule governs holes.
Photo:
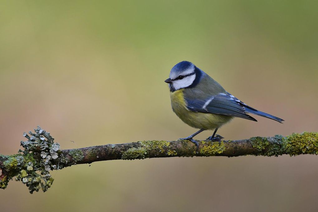
POLYGON ((206 130, 219 128, 233 117, 214 113, 193 112, 187 108, 183 97, 183 90, 170 92, 172 110, 187 125, 206 130))

